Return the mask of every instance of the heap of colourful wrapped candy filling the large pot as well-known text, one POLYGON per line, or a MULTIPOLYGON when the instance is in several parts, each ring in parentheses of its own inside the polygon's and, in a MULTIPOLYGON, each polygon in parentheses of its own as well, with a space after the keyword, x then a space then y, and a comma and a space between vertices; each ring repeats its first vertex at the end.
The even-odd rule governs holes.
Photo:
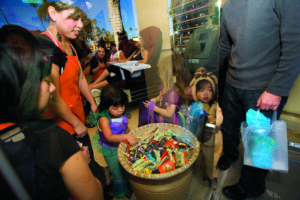
POLYGON ((166 173, 183 167, 193 148, 172 130, 159 128, 146 132, 137 145, 127 146, 123 154, 129 165, 145 174, 166 173))

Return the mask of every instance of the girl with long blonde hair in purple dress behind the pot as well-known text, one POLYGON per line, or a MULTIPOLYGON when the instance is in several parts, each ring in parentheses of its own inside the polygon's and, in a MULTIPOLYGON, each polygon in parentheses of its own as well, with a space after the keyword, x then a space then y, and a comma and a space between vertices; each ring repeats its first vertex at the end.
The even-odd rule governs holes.
POLYGON ((179 124, 178 114, 181 105, 180 89, 175 86, 170 57, 166 57, 159 67, 161 84, 159 96, 140 104, 139 126, 149 123, 179 124))

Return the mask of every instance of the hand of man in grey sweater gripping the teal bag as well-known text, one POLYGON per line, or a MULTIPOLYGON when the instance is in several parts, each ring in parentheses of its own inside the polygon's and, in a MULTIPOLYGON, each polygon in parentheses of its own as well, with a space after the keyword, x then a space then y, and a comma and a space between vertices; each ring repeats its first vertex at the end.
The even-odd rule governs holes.
POLYGON ((264 91, 257 100, 257 105, 262 110, 276 110, 280 104, 281 96, 264 91))

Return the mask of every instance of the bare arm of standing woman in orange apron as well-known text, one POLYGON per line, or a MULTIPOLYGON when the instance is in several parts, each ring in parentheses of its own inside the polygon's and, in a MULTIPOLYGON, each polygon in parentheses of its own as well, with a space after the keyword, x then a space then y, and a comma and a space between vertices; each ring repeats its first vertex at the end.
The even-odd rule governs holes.
POLYGON ((69 106, 60 95, 60 82, 59 82, 59 67, 56 64, 52 64, 51 79, 55 85, 56 90, 53 92, 53 98, 50 102, 50 106, 55 114, 73 126, 75 133, 83 137, 87 134, 86 127, 82 122, 73 114, 69 106))

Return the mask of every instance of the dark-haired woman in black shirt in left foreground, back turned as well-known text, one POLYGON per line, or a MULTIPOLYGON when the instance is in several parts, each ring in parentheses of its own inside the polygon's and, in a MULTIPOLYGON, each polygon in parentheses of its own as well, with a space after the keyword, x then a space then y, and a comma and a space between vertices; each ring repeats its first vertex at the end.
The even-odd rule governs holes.
MULTIPOLYGON (((0 144, 26 191, 32 199, 103 199, 101 184, 88 167, 87 149, 81 151, 68 132, 40 117, 55 86, 38 41, 16 25, 3 26, 0 35, 0 123, 21 129, 0 134, 0 144)), ((2 177, 1 199, 15 199, 19 190, 10 189, 2 177)))

